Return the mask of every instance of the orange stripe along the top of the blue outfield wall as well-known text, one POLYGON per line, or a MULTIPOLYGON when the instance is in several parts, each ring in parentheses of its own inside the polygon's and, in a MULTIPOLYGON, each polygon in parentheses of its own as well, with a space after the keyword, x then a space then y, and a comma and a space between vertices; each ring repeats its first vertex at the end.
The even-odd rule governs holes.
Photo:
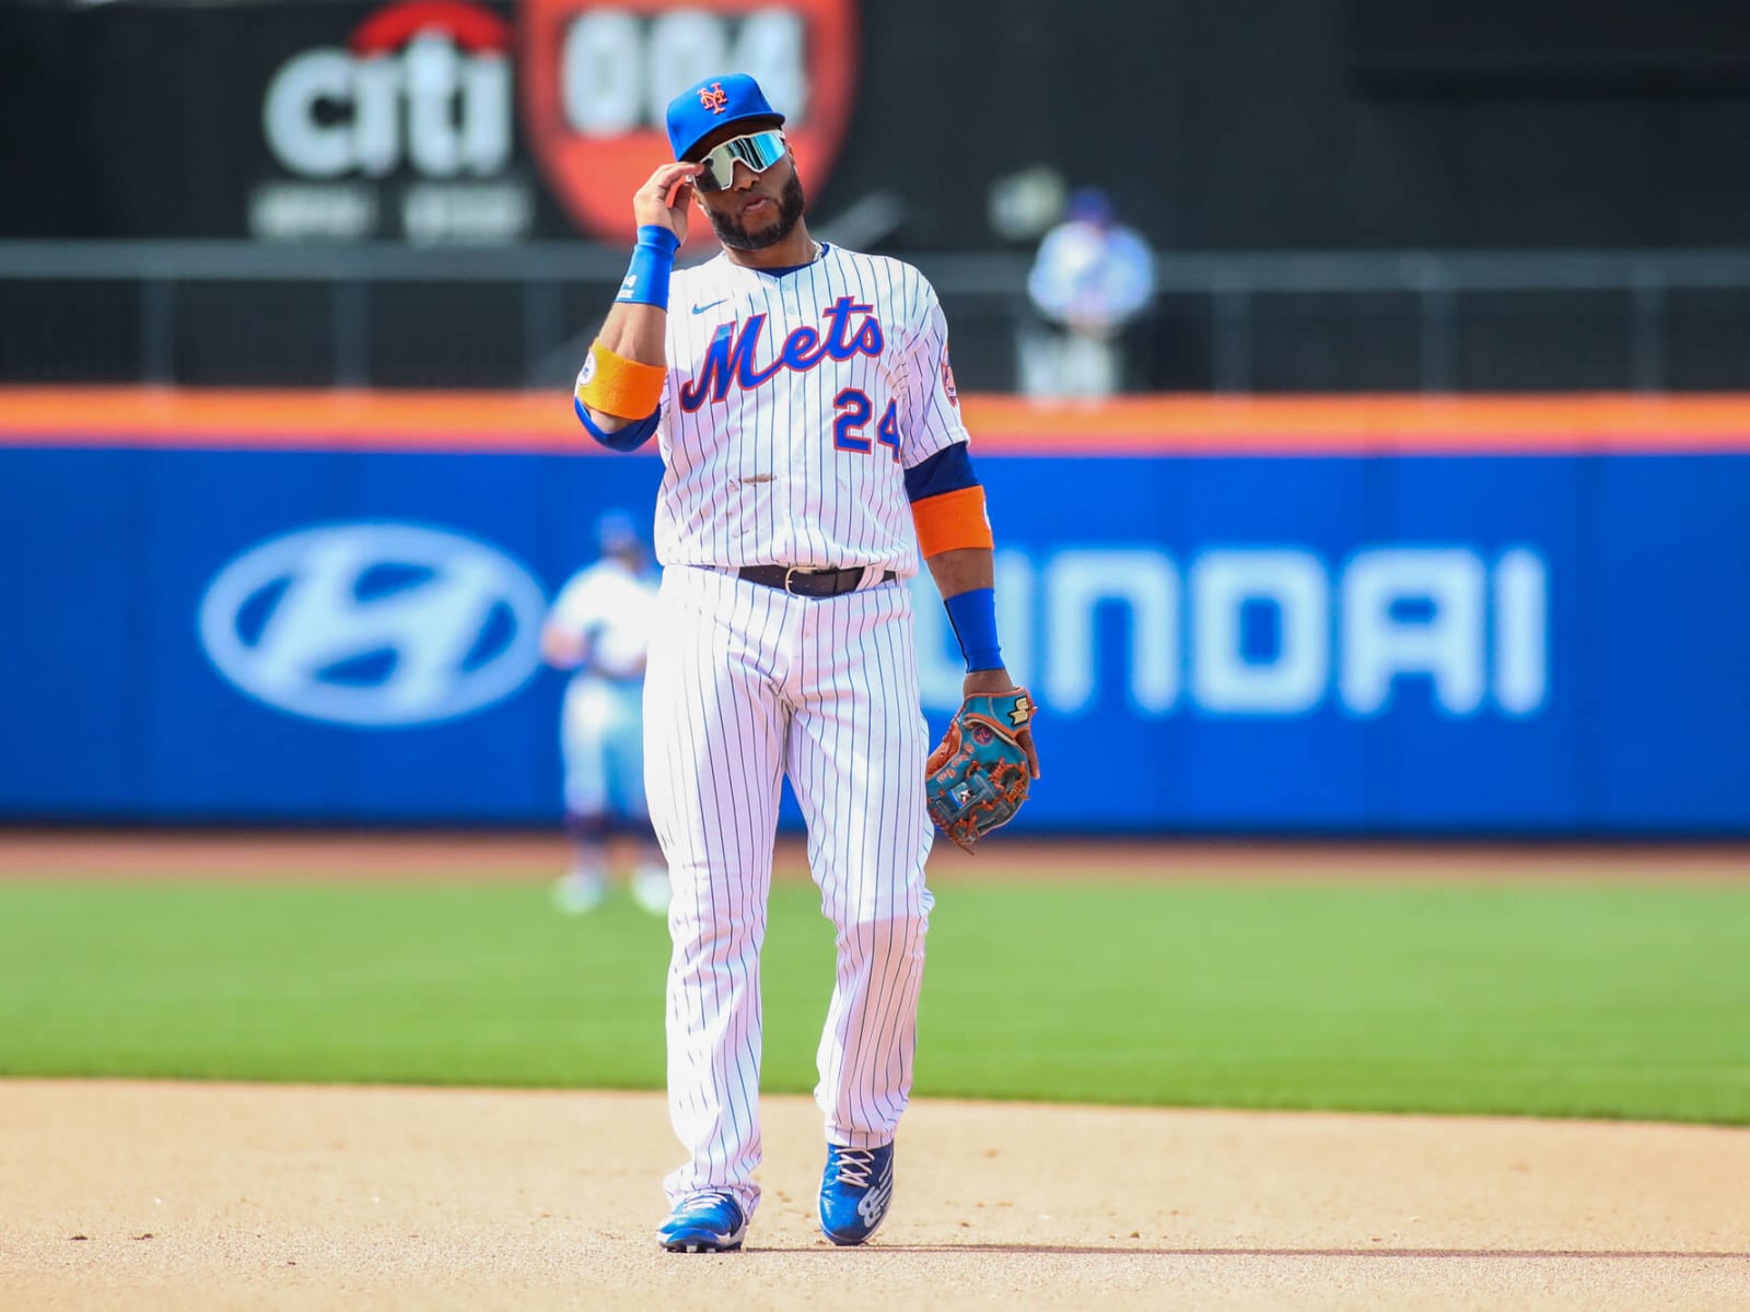
MULTIPOLYGON (((1750 453, 1750 395, 964 399, 976 451, 1750 453)), ((607 455, 546 392, 0 388, 0 446, 607 455)))

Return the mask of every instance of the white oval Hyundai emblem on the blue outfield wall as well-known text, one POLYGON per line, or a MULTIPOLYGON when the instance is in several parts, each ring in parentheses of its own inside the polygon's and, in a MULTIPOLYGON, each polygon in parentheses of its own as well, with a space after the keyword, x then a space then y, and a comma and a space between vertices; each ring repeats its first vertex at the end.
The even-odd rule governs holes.
POLYGON ((273 537, 201 598, 212 663, 271 707, 369 728, 481 710, 534 672, 541 586, 483 542, 408 523, 273 537))

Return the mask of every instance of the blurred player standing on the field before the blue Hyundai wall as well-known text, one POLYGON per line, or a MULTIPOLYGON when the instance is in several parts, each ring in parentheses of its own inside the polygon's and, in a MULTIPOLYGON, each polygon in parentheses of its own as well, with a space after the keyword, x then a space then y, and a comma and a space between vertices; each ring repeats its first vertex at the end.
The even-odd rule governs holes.
POLYGON ((553 901, 569 915, 602 904, 607 840, 621 831, 640 843, 634 899, 665 915, 668 868, 644 801, 644 656, 656 583, 628 516, 604 514, 595 532, 602 558, 560 590, 541 630, 548 665, 574 670, 560 712, 572 866, 555 885, 553 901))

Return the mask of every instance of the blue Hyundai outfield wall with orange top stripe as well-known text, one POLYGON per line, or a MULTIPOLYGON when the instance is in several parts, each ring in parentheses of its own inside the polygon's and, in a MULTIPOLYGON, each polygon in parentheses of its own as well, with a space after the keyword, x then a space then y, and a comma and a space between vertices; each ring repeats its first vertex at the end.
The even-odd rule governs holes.
MULTIPOLYGON (((660 476, 567 408, 0 392, 0 817, 555 820, 541 609, 660 476)), ((966 409, 1017 824, 1750 833, 1750 401, 966 409)))

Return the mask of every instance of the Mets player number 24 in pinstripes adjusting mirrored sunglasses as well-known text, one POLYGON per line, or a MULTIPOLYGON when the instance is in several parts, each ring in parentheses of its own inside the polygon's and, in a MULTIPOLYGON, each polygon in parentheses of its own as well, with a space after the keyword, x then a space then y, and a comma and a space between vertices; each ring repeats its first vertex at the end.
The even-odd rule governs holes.
POLYGON ((677 1253, 740 1247, 760 1204, 760 946, 786 773, 838 946, 821 1228, 861 1244, 887 1214, 933 903, 903 584, 920 556, 968 693, 1013 689, 936 294, 908 264, 808 236, 782 124, 742 73, 670 101, 676 163, 634 194, 632 266, 576 388, 598 441, 654 434, 665 467, 644 715, 674 878, 668 1111, 686 1162, 663 1181, 658 1242, 677 1253), (723 252, 676 271, 693 205, 723 252))

